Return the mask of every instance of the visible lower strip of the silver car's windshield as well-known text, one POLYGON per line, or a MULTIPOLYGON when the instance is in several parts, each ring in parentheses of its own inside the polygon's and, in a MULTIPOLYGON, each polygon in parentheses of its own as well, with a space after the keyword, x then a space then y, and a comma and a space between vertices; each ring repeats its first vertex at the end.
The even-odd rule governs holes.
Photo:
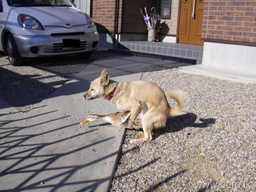
POLYGON ((68 0, 7 0, 10 6, 72 6, 68 0))

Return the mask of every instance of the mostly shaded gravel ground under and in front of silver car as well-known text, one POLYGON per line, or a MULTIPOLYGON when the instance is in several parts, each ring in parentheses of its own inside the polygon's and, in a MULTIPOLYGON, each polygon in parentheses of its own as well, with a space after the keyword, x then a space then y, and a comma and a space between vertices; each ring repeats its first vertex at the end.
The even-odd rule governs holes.
POLYGON ((26 60, 22 66, 13 67, 7 56, 0 54, 0 98, 27 112, 93 61, 120 55, 95 51, 88 59, 56 56, 26 60))

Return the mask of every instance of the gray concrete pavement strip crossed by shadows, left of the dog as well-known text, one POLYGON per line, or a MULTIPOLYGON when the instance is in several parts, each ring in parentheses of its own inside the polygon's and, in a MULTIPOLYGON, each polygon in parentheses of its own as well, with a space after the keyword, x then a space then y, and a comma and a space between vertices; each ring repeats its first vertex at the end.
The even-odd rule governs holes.
POLYGON ((108 191, 125 130, 106 122, 80 125, 91 113, 117 111, 83 94, 103 68, 116 81, 135 81, 144 67, 164 62, 135 56, 94 61, 28 113, 0 99, 0 191, 108 191))

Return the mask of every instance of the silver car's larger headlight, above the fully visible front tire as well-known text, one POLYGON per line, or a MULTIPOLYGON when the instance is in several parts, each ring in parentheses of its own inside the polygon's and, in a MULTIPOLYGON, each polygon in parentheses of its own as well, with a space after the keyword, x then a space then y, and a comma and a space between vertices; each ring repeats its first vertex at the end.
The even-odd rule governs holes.
POLYGON ((20 26, 22 26, 22 28, 44 30, 42 24, 40 24, 37 19, 29 15, 20 14, 18 16, 18 23, 20 26))

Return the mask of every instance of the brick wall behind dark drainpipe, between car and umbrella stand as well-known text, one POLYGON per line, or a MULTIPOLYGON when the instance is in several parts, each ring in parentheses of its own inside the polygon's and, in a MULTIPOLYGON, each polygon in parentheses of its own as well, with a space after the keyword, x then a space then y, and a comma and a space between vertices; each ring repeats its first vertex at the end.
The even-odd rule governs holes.
MULTIPOLYGON (((176 0, 177 1, 177 0, 176 0)), ((150 8, 159 4, 159 0, 119 0, 118 33, 147 33, 140 8, 150 8)), ((115 0, 93 0, 92 19, 99 32, 113 33, 115 0)))

